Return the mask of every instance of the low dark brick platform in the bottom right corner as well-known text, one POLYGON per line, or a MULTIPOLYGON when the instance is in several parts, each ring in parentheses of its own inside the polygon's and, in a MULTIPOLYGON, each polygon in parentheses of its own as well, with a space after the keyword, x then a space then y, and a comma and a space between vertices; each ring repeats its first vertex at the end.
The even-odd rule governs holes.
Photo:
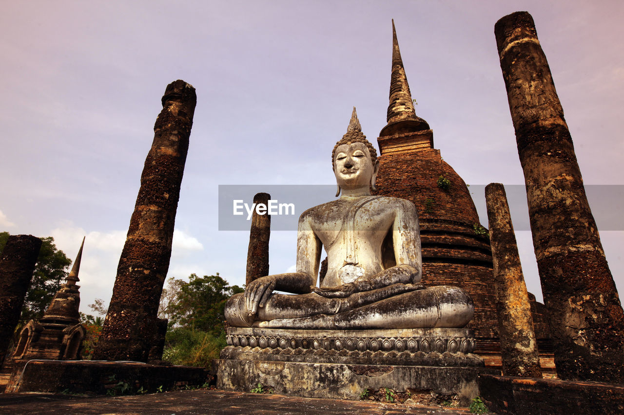
POLYGON ((479 391, 490 411, 504 415, 621 415, 622 384, 479 375, 479 391))

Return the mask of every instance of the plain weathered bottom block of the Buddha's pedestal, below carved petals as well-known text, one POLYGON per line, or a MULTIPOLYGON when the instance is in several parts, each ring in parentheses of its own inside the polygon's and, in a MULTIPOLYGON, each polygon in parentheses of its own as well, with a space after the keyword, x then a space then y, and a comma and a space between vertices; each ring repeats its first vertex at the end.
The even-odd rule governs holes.
POLYGON ((479 394, 477 375, 484 367, 348 365, 287 361, 217 360, 217 387, 249 391, 258 383, 277 393, 309 398, 358 399, 365 389, 429 390, 459 394, 469 401, 479 394))

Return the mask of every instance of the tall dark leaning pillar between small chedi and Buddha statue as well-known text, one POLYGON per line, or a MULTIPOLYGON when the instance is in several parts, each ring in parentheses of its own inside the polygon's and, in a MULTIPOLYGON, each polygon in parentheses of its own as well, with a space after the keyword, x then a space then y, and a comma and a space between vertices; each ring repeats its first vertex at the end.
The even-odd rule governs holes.
POLYGON ((188 83, 177 80, 167 85, 94 360, 162 357, 158 302, 171 257, 195 103, 195 88, 188 83))

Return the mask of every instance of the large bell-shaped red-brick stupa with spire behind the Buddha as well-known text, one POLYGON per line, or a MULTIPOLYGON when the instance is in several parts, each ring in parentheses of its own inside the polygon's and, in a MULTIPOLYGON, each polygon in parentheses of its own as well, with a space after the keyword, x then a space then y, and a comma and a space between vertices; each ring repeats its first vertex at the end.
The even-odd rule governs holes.
MULTIPOLYGON (((433 131, 417 117, 392 22, 388 125, 379 133, 377 194, 416 204, 421 227, 422 282, 457 285, 474 301, 475 353, 500 366, 492 251, 469 189, 434 148, 433 131)), ((544 306, 532 301, 540 351, 550 351, 544 306)))

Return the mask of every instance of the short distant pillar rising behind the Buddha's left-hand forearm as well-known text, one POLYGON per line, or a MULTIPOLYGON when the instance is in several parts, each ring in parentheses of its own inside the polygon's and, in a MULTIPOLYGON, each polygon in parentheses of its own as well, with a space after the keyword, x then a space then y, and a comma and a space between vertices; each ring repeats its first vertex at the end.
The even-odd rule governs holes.
MULTIPOLYGON (((253 203, 268 206, 271 195, 256 193, 253 203)), ((247 272, 245 284, 260 277, 269 275, 269 238, 271 237, 271 215, 258 214, 253 211, 251 216, 251 230, 249 231, 249 249, 247 250, 247 272)))

